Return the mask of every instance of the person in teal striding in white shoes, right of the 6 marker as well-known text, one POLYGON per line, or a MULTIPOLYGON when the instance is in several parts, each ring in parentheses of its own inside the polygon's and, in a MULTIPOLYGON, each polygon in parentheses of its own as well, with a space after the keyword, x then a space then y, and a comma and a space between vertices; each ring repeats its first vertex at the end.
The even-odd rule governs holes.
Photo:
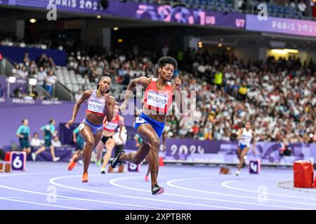
POLYGON ((44 132, 45 144, 44 146, 39 148, 35 153, 32 153, 32 160, 35 161, 37 159, 37 155, 39 155, 39 153, 44 152, 46 147, 49 147, 51 149, 51 157, 53 158, 53 162, 57 162, 58 160, 60 160, 60 158, 55 157, 55 148, 51 144, 51 139, 53 135, 57 134, 57 131, 55 130, 55 119, 49 120, 49 124, 42 126, 41 130, 44 132))

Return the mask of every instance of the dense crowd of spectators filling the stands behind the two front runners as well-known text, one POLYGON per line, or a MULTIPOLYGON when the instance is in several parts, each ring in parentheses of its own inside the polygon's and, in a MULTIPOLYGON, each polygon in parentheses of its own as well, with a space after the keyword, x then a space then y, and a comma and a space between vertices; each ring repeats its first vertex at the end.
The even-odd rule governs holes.
MULTIPOLYGON (((127 85, 132 78, 156 76, 157 55, 108 52, 101 57, 70 57, 68 68, 91 82, 111 73, 114 83, 127 85)), ((302 63, 296 57, 268 57, 265 62, 243 62, 227 53, 189 49, 184 64, 179 72, 183 90, 196 91, 196 108, 187 117, 168 116, 169 137, 235 140, 237 130, 250 120, 258 141, 315 141, 312 59, 302 63)))

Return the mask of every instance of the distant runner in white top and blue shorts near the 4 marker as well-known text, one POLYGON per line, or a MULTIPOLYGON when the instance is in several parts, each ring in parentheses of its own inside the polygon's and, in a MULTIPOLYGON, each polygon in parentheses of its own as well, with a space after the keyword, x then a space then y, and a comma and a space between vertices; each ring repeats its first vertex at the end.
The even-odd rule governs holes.
POLYGON ((251 139, 253 139, 253 151, 254 155, 256 154, 256 139, 254 137, 254 130, 251 129, 251 123, 249 121, 246 122, 245 127, 242 127, 237 132, 237 153, 239 159, 239 165, 236 172, 236 175, 239 176, 240 169, 242 169, 242 165, 244 164, 244 156, 248 153, 251 139))

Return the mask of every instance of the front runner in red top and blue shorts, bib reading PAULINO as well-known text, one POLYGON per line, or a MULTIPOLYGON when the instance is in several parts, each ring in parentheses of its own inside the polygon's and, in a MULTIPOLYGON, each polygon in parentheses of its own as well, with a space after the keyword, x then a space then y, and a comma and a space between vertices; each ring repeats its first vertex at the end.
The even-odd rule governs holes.
POLYGON ((176 96, 176 103, 180 113, 183 113, 184 102, 180 92, 180 78, 175 78, 175 83, 169 83, 173 73, 177 67, 176 59, 172 57, 162 57, 158 62, 157 73, 158 78, 140 77, 131 80, 126 89, 124 102, 121 104, 120 111, 126 109, 129 104, 129 97, 136 85, 142 85, 145 88, 145 97, 143 104, 143 113, 136 118, 135 130, 143 139, 138 151, 131 153, 119 153, 112 160, 112 167, 117 167, 121 161, 127 160, 139 165, 140 162, 147 161, 150 167, 150 176, 152 181, 152 195, 164 193, 164 188, 157 183, 159 170, 159 146, 164 124, 166 122, 166 114, 173 102, 173 92, 176 96))

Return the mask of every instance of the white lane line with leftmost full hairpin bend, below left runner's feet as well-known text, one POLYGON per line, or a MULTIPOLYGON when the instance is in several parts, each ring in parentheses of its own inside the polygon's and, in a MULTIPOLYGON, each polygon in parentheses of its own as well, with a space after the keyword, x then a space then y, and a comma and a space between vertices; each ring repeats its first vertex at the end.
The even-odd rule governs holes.
MULTIPOLYGON (((129 198, 138 199, 138 200, 149 200, 149 201, 155 201, 155 202, 168 202, 168 203, 172 203, 172 204, 186 204, 186 205, 190 205, 190 206, 210 207, 210 208, 216 208, 216 209, 238 209, 238 208, 231 208, 231 207, 218 207, 218 206, 207 205, 207 204, 195 204, 195 203, 189 203, 189 202, 175 202, 175 201, 169 201, 169 200, 157 200, 157 199, 152 199, 152 198, 148 198, 148 197, 136 197, 136 196, 131 196, 131 195, 118 195, 118 194, 114 194, 114 193, 105 193, 105 192, 96 191, 96 190, 87 190, 87 189, 83 189, 83 188, 74 188, 74 187, 71 187, 71 186, 65 186, 65 185, 62 185, 60 183, 56 183, 55 182, 58 179, 68 179, 68 178, 76 177, 76 176, 79 176, 79 175, 58 176, 58 177, 55 177, 53 179, 50 179, 49 182, 51 184, 53 184, 55 186, 59 186, 61 188, 69 188, 69 189, 72 189, 72 190, 81 190, 81 191, 85 191, 85 192, 88 192, 88 193, 97 193, 97 194, 102 194, 102 195, 113 195, 113 196, 119 196, 119 197, 129 197, 129 198)), ((90 175, 90 176, 93 176, 93 175, 90 175)), ((140 178, 140 176, 137 176, 137 178, 140 178)), ((143 190, 143 191, 150 192, 150 191, 147 191, 147 190, 143 190)))

